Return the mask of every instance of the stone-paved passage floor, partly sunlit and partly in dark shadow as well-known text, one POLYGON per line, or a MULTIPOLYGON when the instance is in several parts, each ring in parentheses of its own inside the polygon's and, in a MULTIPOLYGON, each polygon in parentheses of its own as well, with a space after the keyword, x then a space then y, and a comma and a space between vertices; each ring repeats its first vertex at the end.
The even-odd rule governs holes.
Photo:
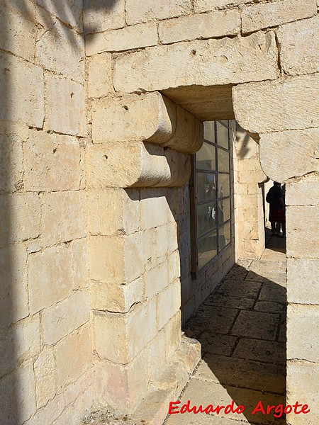
POLYGON ((274 409, 267 414, 267 405, 285 404, 285 240, 267 238, 262 258, 236 264, 184 327, 186 336, 201 342, 203 358, 177 410, 189 400, 203 409, 233 401, 233 410, 242 405, 245 411, 171 414, 166 425, 285 424, 274 409), (252 414, 259 401, 266 414, 252 414))

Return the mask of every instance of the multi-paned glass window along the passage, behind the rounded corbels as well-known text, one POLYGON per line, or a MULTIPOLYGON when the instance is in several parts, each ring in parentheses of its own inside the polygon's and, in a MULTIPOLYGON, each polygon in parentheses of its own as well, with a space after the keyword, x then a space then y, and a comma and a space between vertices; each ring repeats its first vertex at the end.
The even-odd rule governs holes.
POLYGON ((230 121, 206 121, 204 142, 191 177, 192 274, 205 268, 231 241, 230 121))

